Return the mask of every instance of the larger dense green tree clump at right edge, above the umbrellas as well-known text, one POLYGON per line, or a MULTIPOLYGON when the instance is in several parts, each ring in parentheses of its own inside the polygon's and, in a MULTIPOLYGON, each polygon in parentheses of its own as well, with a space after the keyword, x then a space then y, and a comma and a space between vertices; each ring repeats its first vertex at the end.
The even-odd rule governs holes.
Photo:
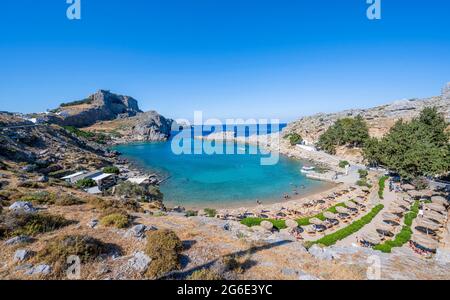
POLYGON ((418 118, 398 121, 381 140, 370 139, 363 153, 371 165, 384 165, 405 179, 436 176, 450 171, 448 123, 436 108, 418 118))

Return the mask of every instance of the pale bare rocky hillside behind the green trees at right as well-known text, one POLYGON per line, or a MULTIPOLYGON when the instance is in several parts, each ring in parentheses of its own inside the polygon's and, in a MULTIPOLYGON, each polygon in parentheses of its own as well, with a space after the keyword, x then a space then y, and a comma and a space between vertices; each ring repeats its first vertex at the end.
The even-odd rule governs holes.
POLYGON ((425 107, 433 106, 450 119, 450 83, 443 88, 440 96, 400 100, 369 109, 351 109, 331 114, 320 113, 290 123, 285 132, 296 132, 309 143, 315 143, 338 119, 361 115, 369 125, 370 135, 382 137, 399 119, 410 120, 418 116, 425 107))

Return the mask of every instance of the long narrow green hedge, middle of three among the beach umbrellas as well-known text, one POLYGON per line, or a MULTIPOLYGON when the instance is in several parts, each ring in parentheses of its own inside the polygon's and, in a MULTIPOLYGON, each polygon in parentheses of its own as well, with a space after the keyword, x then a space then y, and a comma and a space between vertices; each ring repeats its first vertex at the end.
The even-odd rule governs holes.
POLYGON ((344 227, 336 232, 333 232, 329 235, 324 236, 323 238, 315 241, 315 242, 309 242, 306 243, 306 246, 309 248, 314 244, 317 245, 324 245, 324 246, 332 246, 337 241, 340 241, 342 239, 345 239, 346 237, 358 232, 361 228, 363 228, 365 225, 372 222, 372 220, 378 215, 378 213, 384 208, 383 204, 379 204, 375 206, 370 213, 362 217, 361 219, 353 222, 352 224, 348 225, 347 227, 344 227))

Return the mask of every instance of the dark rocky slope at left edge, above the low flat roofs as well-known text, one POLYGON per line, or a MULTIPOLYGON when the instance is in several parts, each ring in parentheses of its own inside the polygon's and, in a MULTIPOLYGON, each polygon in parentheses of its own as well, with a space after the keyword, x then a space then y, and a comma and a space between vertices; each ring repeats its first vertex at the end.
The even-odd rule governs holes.
POLYGON ((108 151, 57 125, 35 125, 0 114, 0 161, 26 172, 49 174, 109 164, 108 151))

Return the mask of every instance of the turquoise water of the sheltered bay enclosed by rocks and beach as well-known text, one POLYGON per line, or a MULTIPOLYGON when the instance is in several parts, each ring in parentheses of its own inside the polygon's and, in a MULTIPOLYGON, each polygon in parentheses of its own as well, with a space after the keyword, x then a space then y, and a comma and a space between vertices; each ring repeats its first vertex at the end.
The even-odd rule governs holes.
MULTIPOLYGON (((193 140, 191 140, 193 142, 193 140)), ((201 141, 193 147, 202 147, 201 141)), ((124 157, 149 171, 167 177, 161 185, 165 203, 186 207, 236 207, 253 205, 257 200, 273 203, 283 196, 300 195, 323 188, 324 183, 307 179, 300 173, 302 163, 280 156, 279 162, 262 166, 261 157, 250 154, 254 146, 235 145, 233 155, 175 155, 171 141, 120 145, 115 149, 124 157), (244 152, 245 154, 237 154, 244 152)))

